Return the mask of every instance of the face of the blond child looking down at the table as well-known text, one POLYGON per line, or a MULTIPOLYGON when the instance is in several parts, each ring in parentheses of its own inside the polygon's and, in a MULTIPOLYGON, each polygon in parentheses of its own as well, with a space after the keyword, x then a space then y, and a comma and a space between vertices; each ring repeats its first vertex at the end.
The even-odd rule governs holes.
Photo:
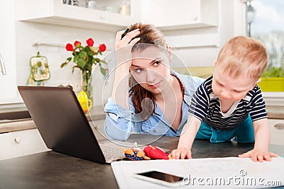
POLYGON ((231 77, 224 73, 222 69, 215 66, 212 90, 221 101, 239 101, 246 96, 255 85, 255 79, 246 76, 231 77))

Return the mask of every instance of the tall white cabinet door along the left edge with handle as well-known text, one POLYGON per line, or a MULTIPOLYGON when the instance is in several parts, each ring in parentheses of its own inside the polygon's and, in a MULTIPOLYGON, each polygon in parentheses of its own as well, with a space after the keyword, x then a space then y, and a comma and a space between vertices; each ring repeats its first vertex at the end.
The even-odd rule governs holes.
POLYGON ((0 104, 18 103, 16 88, 16 35, 14 1, 6 1, 0 6, 0 55, 4 61, 6 75, 0 73, 0 104), (9 19, 8 19, 9 18, 9 19))

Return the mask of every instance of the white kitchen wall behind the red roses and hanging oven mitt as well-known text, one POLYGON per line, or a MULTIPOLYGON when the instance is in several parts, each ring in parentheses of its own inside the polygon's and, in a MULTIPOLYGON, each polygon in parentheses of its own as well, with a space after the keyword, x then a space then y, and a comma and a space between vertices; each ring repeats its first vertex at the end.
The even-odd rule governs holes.
MULTIPOLYGON (((42 23, 28 23, 17 22, 16 30, 21 31, 16 33, 16 71, 18 85, 25 85, 30 75, 29 60, 31 57, 36 56, 39 51, 40 55, 48 58, 51 77, 45 81, 45 86, 58 86, 58 85, 71 85, 76 92, 80 91, 81 76, 80 70, 75 69, 72 74, 72 66, 75 64, 68 64, 67 67, 60 68, 60 64, 65 62, 67 57, 71 57, 71 52, 65 50, 65 44, 70 42, 73 44, 75 40, 82 42, 86 45, 88 38, 93 38, 95 45, 105 43, 107 51, 104 55, 109 54, 114 50, 114 32, 107 32, 101 30, 89 30, 81 28, 61 27, 58 25, 47 25, 42 23), (50 47, 45 45, 34 46, 35 42, 51 43, 62 47, 50 47)), ((104 77, 95 69, 96 86, 104 82, 104 77), (97 84, 98 83, 98 84, 97 84)), ((97 91, 102 91, 98 88, 97 91)), ((97 94, 94 90, 94 93, 97 94)), ((97 98, 96 98, 97 99, 97 98)), ((102 102, 95 102, 95 105, 101 105, 102 102)))

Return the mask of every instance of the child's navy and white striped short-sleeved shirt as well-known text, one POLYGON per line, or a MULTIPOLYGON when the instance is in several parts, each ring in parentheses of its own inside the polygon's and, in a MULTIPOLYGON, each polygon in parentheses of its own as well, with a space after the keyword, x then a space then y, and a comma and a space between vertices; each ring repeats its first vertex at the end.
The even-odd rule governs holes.
POLYGON ((213 76, 210 76, 206 79, 192 96, 188 110, 191 115, 215 130, 233 130, 249 114, 252 121, 267 118, 266 104, 261 95, 261 88, 257 85, 243 99, 236 101, 226 113, 222 113, 219 98, 212 90, 212 78, 213 76))

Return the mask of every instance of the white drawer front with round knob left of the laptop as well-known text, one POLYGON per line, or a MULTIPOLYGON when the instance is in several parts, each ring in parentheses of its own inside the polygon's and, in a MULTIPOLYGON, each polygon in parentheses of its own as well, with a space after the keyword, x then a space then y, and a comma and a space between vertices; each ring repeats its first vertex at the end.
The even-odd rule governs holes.
POLYGON ((0 134, 0 160, 47 151, 37 129, 0 134))

